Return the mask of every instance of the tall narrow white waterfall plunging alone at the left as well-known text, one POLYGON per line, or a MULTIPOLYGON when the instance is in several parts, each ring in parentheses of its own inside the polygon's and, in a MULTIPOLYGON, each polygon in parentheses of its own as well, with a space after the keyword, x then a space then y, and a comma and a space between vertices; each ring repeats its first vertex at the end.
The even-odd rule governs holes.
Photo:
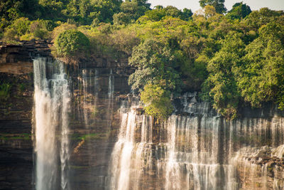
POLYGON ((34 68, 35 105, 35 189, 69 189, 68 110, 70 91, 62 63, 36 58, 34 68), (60 157, 60 168, 58 167, 60 157), (58 176, 60 174, 60 176, 58 176))

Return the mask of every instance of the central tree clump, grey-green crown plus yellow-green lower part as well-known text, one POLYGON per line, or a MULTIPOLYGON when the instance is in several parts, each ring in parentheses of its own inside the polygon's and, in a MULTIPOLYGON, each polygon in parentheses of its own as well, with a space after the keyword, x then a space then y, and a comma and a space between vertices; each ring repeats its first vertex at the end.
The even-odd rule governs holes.
POLYGON ((140 93, 146 113, 167 117, 173 111, 170 95, 180 93, 182 86, 173 51, 163 43, 148 39, 133 48, 129 64, 137 68, 130 75, 129 84, 140 93))

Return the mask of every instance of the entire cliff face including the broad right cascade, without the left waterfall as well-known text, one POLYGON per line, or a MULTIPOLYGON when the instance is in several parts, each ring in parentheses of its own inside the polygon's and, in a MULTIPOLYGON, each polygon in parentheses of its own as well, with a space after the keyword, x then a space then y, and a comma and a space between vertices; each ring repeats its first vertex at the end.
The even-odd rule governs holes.
MULTIPOLYGON (((10 86, 0 94, 0 189, 33 189, 38 180, 33 59, 41 57, 52 80, 58 63, 49 46, 34 41, 0 48, 1 86, 10 86)), ((175 114, 158 123, 131 108, 137 102, 128 95, 133 68, 126 59, 98 54, 65 65, 64 72, 70 90, 65 176, 70 189, 118 189, 121 184, 127 184, 125 189, 283 188, 284 113, 273 105, 244 108, 242 117, 227 121, 187 93, 175 100, 175 114), (132 147, 124 148, 127 144, 132 147)), ((57 129, 55 189, 65 172, 59 169, 60 135, 57 129)))

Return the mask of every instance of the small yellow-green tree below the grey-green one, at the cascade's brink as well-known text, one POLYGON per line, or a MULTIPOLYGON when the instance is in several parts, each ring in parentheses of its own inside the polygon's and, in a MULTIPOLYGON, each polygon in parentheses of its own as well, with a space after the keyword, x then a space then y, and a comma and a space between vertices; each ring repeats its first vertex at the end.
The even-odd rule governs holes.
POLYGON ((164 90, 160 85, 145 85, 141 93, 141 100, 145 104, 146 114, 160 120, 167 118, 173 112, 170 91, 164 90))

